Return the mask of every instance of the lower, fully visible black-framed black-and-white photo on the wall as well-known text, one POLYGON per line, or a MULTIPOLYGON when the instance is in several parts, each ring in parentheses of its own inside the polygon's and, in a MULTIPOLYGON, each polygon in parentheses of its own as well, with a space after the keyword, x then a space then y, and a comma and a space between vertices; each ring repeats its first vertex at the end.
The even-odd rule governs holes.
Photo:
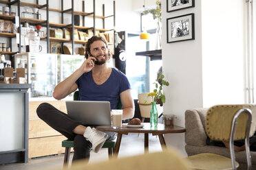
POLYGON ((167 43, 194 40, 194 14, 175 16, 167 19, 167 43))

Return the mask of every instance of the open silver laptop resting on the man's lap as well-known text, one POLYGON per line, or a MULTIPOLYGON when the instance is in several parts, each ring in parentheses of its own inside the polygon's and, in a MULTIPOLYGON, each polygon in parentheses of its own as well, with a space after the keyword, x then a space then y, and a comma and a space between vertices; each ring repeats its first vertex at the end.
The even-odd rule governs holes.
POLYGON ((109 101, 66 101, 67 115, 83 125, 111 125, 109 101))

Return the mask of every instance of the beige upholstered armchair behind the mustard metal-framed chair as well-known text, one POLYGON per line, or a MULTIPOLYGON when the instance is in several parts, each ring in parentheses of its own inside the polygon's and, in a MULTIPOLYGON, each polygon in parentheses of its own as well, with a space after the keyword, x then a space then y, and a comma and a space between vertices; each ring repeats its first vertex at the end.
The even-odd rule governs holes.
MULTIPOLYGON (((185 112, 185 142, 188 156, 201 153, 219 154, 231 158, 230 150, 226 147, 217 147, 206 144, 205 118, 208 108, 195 108, 185 112)), ((252 169, 256 169, 256 152, 250 151, 252 169)), ((236 151, 235 158, 239 162, 238 169, 247 169, 246 151, 236 151)))

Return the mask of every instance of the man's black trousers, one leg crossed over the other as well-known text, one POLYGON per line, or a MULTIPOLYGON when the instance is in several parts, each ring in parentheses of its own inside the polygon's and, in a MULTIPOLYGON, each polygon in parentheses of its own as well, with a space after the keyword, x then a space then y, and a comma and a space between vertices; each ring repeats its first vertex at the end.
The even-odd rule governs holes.
POLYGON ((67 114, 47 103, 40 104, 36 112, 39 118, 54 128, 54 130, 74 140, 74 156, 72 161, 89 158, 92 143, 87 141, 83 135, 72 132, 76 126, 81 125, 80 122, 70 119, 67 114))

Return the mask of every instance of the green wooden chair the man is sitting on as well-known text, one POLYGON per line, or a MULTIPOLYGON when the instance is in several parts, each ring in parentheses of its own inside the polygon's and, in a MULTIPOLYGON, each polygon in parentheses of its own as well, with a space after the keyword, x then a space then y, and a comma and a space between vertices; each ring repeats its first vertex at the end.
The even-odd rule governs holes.
MULTIPOLYGON (((79 97, 79 93, 78 91, 76 91, 74 93, 74 100, 78 100, 79 97)), ((118 109, 122 108, 122 104, 119 102, 118 109)), ((107 140, 105 141, 103 148, 107 148, 108 149, 108 153, 109 153, 109 157, 111 158, 113 156, 114 153, 114 147, 116 145, 116 138, 114 138, 113 140, 107 140)), ((65 156, 64 156, 64 162, 63 162, 63 166, 68 165, 68 162, 70 160, 70 148, 74 147, 74 141, 67 139, 65 141, 62 141, 62 147, 65 147, 65 156)))

